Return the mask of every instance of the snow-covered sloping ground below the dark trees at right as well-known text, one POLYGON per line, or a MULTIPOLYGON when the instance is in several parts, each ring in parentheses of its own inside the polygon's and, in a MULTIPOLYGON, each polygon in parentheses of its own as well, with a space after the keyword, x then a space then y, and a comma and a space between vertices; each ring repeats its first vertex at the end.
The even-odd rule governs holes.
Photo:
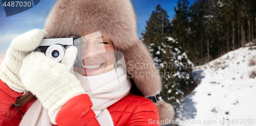
POLYGON ((176 123, 256 125, 256 78, 250 77, 251 71, 256 72, 256 49, 248 48, 194 68, 200 82, 176 110, 176 123))

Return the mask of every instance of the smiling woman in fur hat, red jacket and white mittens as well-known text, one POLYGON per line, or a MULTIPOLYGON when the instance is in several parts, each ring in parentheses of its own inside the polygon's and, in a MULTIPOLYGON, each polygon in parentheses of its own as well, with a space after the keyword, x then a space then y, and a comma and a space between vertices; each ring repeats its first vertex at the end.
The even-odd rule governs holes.
POLYGON ((18 36, 7 51, 0 69, 0 124, 159 125, 159 114, 160 120, 173 118, 171 105, 159 101, 157 109, 145 98, 160 92, 161 80, 136 36, 130 1, 59 0, 45 30, 18 36), (83 68, 70 70, 73 46, 60 63, 32 52, 50 36, 80 36, 83 68), (32 94, 23 95, 25 90, 32 94))

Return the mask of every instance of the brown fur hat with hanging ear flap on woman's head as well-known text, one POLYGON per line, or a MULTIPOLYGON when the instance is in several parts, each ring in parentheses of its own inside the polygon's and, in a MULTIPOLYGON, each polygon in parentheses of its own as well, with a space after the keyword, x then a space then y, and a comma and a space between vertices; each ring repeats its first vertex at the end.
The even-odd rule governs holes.
POLYGON ((47 38, 83 36, 100 31, 125 58, 126 70, 143 96, 161 90, 152 56, 136 35, 136 16, 130 0, 59 0, 48 16, 47 38))

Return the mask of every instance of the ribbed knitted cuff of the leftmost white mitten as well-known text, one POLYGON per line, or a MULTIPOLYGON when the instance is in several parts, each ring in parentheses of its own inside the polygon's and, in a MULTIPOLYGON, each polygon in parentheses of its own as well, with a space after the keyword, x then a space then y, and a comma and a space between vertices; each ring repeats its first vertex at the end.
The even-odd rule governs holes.
POLYGON ((18 85, 21 84, 21 81, 10 71, 5 61, 1 64, 0 79, 14 91, 22 93, 26 90, 25 87, 18 85))

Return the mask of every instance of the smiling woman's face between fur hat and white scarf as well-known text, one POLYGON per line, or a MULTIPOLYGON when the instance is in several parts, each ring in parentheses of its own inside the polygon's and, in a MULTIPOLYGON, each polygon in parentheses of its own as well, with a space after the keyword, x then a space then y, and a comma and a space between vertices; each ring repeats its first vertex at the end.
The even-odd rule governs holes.
POLYGON ((113 43, 100 32, 87 34, 82 41, 83 68, 74 67, 74 71, 86 75, 98 75, 110 71, 114 67, 116 57, 113 43))

